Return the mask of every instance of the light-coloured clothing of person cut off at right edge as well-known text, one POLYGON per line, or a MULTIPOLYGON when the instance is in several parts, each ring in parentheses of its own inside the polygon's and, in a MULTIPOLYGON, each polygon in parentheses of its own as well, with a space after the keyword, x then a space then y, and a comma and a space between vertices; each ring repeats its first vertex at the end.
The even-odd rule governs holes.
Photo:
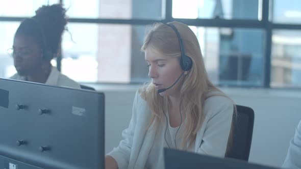
POLYGON ((294 138, 290 141, 282 166, 285 168, 301 168, 301 120, 296 127, 294 138))

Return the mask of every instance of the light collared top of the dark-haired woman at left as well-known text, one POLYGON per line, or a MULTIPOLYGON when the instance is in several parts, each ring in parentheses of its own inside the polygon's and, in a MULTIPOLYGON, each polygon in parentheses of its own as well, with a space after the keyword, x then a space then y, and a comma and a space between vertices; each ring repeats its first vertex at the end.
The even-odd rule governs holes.
MULTIPOLYGON (((10 79, 15 80, 23 80, 26 81, 26 77, 20 76, 18 73, 14 74, 10 79)), ((52 86, 61 86, 61 87, 69 87, 74 89, 81 89, 81 86, 76 81, 70 79, 66 75, 63 75, 61 72, 58 71, 56 67, 51 68, 51 72, 45 82, 46 85, 52 86)))

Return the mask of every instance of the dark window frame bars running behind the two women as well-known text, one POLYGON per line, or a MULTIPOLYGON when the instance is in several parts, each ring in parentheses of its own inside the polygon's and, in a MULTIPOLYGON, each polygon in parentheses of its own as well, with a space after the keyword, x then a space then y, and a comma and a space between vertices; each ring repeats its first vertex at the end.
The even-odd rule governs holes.
MULTIPOLYGON (((272 47, 272 31, 274 29, 285 30, 301 30, 301 24, 281 24, 273 23, 269 18, 272 16, 273 0, 261 0, 262 2, 262 17, 261 20, 249 20, 249 19, 182 19, 172 17, 172 0, 162 0, 164 19, 105 19, 105 18, 69 18, 69 22, 72 23, 107 23, 107 24, 130 24, 130 25, 147 25, 154 22, 171 22, 179 21, 191 26, 203 26, 203 27, 231 27, 231 28, 255 28, 265 31, 265 52, 263 56, 263 88, 271 88, 271 47, 272 47)), ((58 3, 64 3, 64 0, 59 0, 58 3)), ((1 21, 22 21, 26 17, 0 17, 1 21)), ((57 58, 57 67, 61 70, 62 57, 57 58)), ((290 89, 290 88, 289 88, 290 89)))

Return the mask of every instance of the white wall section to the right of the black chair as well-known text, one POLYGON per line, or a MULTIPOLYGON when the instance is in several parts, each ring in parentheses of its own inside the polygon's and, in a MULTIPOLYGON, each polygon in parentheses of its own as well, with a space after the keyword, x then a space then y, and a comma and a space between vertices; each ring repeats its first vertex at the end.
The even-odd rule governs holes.
POLYGON ((224 90, 236 104, 252 107, 255 112, 249 161, 281 166, 301 120, 301 91, 224 90))

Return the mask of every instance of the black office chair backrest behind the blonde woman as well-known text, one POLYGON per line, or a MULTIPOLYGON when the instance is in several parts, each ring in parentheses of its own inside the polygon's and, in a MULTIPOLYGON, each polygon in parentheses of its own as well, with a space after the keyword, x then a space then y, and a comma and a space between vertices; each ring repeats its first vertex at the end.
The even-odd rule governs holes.
POLYGON ((252 143, 254 111, 250 107, 236 105, 237 117, 234 118, 233 139, 225 157, 248 161, 252 143))

